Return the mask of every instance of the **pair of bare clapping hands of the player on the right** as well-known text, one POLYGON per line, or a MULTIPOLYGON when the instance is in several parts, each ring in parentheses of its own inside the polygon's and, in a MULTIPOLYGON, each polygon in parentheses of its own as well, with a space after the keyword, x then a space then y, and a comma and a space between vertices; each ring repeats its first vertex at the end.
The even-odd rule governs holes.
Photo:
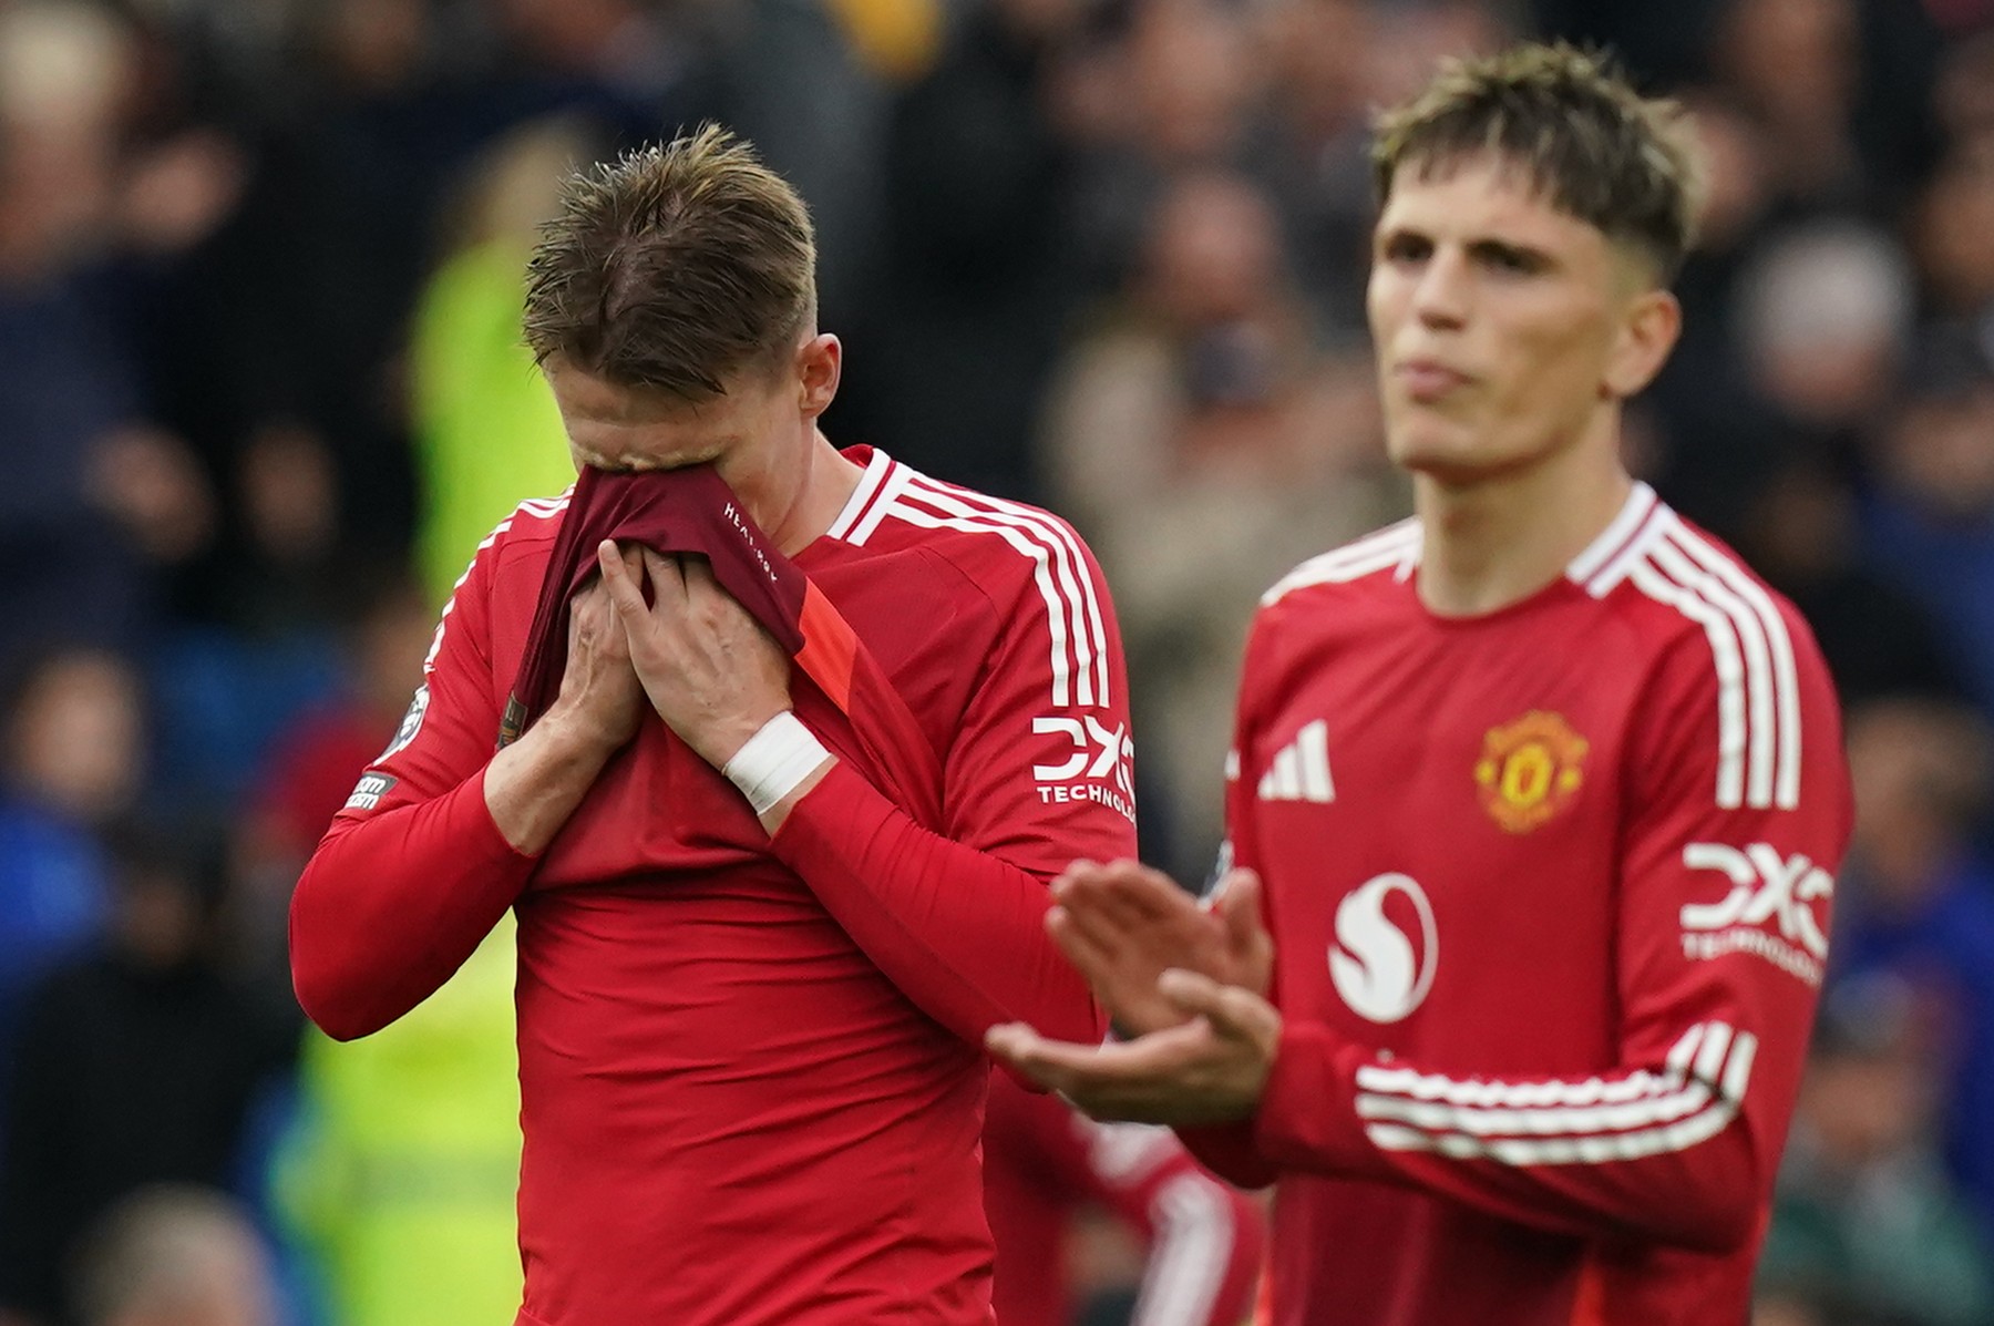
POLYGON ((1280 1049, 1258 875, 1230 871, 1206 909, 1137 861, 1075 861, 1053 903, 1053 941, 1133 1039, 1073 1045, 1011 1023, 989 1031, 989 1051, 1095 1119, 1196 1127, 1252 1115, 1280 1049))

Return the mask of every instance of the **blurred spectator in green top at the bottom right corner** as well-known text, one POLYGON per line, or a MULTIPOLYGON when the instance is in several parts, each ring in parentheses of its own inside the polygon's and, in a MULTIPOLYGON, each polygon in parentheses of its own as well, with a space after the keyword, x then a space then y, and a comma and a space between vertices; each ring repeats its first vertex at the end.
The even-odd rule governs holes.
POLYGON ((1994 1256, 1938 1162, 1944 1065, 1916 997, 1876 975, 1825 1005, 1773 1198, 1759 1292, 1830 1320, 1994 1322, 1994 1256))

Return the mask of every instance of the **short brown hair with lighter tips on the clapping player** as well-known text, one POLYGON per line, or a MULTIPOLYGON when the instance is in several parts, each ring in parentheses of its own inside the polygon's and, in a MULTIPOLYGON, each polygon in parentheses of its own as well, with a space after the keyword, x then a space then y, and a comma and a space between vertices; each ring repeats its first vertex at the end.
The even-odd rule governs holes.
POLYGON ((1641 249, 1663 281, 1695 239, 1701 162, 1687 118, 1675 102, 1635 92, 1605 56, 1531 42, 1448 60, 1378 118, 1378 203, 1400 169, 1424 175, 1470 158, 1519 167, 1553 207, 1641 249))

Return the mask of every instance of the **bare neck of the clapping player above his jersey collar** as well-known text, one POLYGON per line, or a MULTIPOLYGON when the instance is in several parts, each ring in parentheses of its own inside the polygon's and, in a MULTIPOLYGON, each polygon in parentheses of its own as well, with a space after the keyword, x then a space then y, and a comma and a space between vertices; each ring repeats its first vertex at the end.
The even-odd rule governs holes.
POLYGON ((1537 461, 1474 479, 1414 475, 1424 528, 1420 602, 1438 616, 1482 616, 1529 598, 1619 514, 1633 489, 1619 461, 1619 419, 1537 461))

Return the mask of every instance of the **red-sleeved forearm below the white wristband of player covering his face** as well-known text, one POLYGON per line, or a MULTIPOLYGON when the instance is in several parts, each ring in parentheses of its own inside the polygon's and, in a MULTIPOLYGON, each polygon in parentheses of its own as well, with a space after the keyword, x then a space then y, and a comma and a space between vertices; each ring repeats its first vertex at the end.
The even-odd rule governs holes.
POLYGON ((1045 879, 917 826, 839 762, 776 855, 923 1013, 971 1043, 997 1023, 1099 1041, 1101 1009, 1045 933, 1045 879))

